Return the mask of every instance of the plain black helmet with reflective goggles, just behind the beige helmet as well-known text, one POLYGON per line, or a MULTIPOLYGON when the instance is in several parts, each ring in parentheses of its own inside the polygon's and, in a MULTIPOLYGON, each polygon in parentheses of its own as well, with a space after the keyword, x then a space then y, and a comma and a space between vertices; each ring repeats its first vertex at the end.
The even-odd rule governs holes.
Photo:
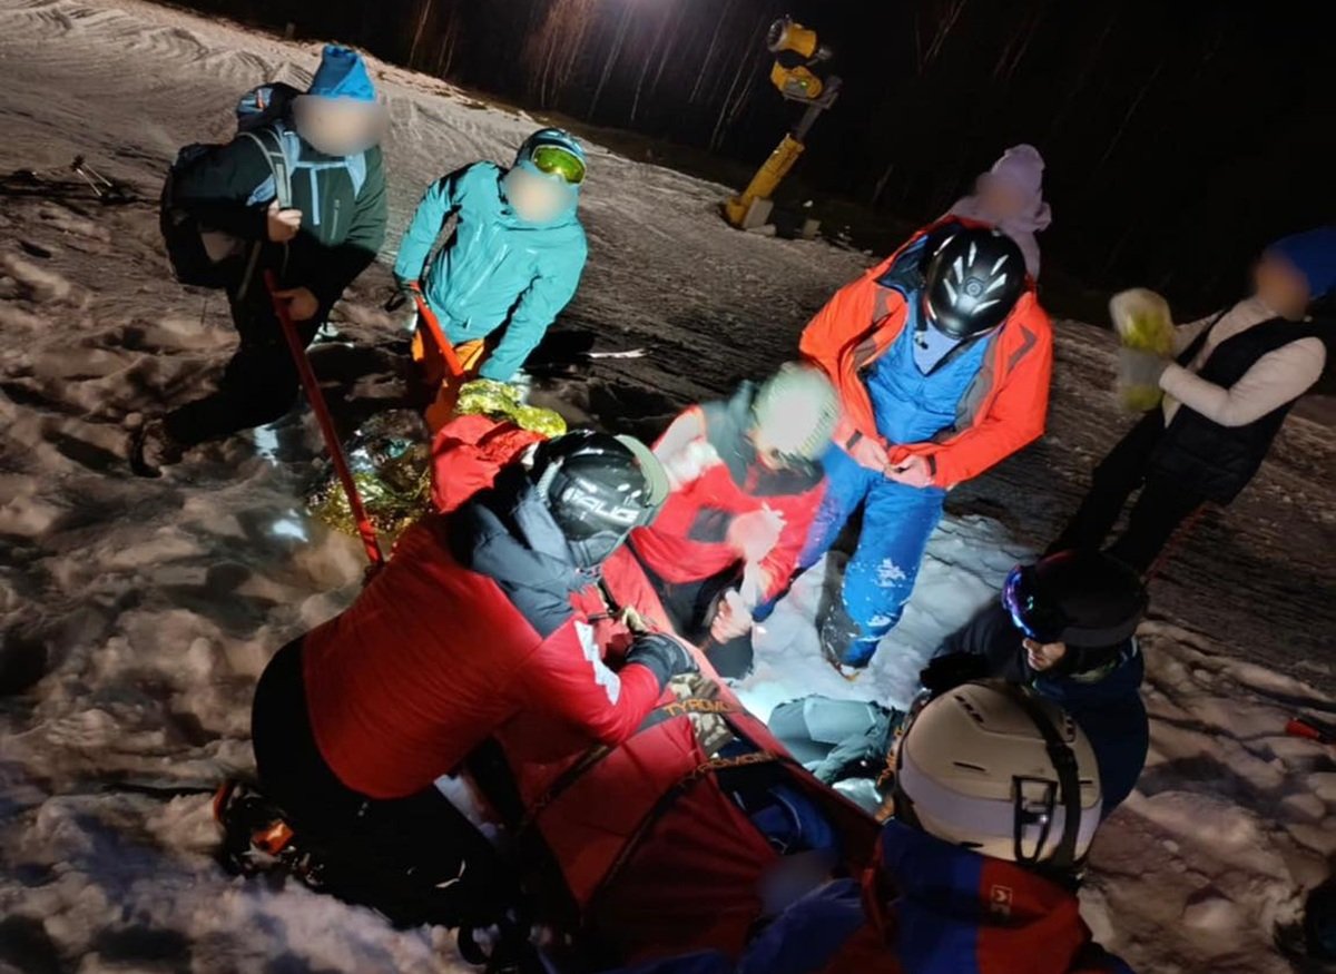
MULTIPOLYGON (((1021 632, 1077 651, 1126 643, 1146 603, 1141 577, 1101 552, 1059 552, 1034 565, 1017 565, 1002 587, 1002 605, 1021 632)), ((1077 659, 1071 663, 1077 671, 1090 668, 1077 659)))

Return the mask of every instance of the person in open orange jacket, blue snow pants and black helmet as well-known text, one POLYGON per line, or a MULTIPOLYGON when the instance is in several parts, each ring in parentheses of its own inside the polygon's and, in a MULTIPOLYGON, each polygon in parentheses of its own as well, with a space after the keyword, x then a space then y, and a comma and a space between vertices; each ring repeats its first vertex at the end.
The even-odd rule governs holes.
POLYGON ((949 218, 842 287, 802 351, 844 417, 800 564, 863 508, 843 605, 822 623, 823 652, 856 669, 899 621, 946 492, 1043 433, 1053 330, 1015 242, 949 218))

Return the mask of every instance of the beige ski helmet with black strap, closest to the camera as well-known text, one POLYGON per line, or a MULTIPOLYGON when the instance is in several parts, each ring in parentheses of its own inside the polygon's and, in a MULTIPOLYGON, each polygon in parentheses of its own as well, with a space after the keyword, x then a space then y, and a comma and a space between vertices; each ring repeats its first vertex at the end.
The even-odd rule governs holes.
POLYGON ((906 721, 895 815, 994 859, 1071 872, 1100 824, 1100 768, 1051 701, 1002 680, 966 683, 906 721))

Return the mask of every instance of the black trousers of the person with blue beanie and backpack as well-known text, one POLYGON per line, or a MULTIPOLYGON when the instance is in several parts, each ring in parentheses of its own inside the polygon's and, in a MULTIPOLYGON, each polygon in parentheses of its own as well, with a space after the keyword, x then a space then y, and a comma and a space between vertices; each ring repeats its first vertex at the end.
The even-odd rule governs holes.
MULTIPOLYGON (((240 337, 218 389, 168 413, 163 424, 182 446, 222 440, 283 417, 297 401, 297 363, 274 314, 269 291, 258 277, 244 297, 228 294, 232 325, 240 337)), ((295 322, 302 345, 310 345, 329 309, 295 322)))

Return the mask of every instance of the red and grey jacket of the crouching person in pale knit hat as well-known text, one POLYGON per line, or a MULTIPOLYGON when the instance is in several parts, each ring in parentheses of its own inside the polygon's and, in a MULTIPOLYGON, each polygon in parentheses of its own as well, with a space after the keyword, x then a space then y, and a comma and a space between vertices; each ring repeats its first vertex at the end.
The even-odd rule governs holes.
POLYGON ((771 513, 782 524, 774 544, 755 562, 755 601, 783 591, 826 494, 819 464, 772 469, 747 436, 755 387, 744 382, 728 402, 693 406, 655 445, 673 490, 655 522, 631 536, 636 557, 669 584, 681 585, 736 573, 747 557, 739 521, 771 513))

